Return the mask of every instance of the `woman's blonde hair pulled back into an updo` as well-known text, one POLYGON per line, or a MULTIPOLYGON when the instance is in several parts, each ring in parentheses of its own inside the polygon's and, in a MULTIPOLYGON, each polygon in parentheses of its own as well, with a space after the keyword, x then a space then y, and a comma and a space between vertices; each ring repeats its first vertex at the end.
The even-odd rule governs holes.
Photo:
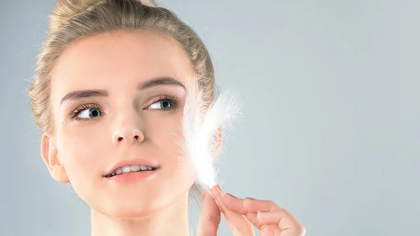
MULTIPOLYGON (((48 34, 36 62, 27 93, 36 125, 53 132, 50 113, 50 71, 63 50, 73 41, 121 30, 152 30, 171 36, 185 51, 195 70, 196 83, 204 92, 204 102, 214 99, 214 67, 209 52, 195 31, 174 12, 159 7, 154 0, 59 0, 50 13, 48 34)), ((200 203, 202 190, 194 184, 190 195, 200 203)))

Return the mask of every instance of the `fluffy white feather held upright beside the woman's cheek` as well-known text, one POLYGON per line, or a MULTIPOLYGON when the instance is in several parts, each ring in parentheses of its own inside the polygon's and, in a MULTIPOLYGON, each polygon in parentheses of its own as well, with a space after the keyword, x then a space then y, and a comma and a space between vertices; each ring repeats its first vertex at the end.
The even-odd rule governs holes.
POLYGON ((222 127, 225 135, 241 115, 242 104, 238 94, 228 89, 223 90, 211 103, 203 102, 202 99, 203 92, 199 85, 195 81, 191 82, 183 109, 183 139, 178 144, 183 156, 190 160, 195 169, 196 182, 204 190, 210 190, 218 184, 214 167, 218 128, 222 127))

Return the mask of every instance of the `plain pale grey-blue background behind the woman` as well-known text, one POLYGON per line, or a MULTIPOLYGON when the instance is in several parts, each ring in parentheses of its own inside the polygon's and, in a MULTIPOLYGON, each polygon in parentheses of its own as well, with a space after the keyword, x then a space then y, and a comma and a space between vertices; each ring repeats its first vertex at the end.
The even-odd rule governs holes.
MULTIPOLYGON (((274 200, 307 235, 420 235, 419 1, 158 3, 243 95, 225 190, 274 200)), ((90 234, 89 208, 41 160, 24 93, 54 4, 0 4, 0 235, 90 234)))

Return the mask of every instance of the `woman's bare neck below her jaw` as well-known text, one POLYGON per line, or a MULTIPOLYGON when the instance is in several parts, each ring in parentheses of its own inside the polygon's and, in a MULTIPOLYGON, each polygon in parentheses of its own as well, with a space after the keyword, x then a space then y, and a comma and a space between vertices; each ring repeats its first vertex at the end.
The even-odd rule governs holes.
POLYGON ((92 236, 189 236, 188 197, 151 216, 120 219, 91 209, 92 236))

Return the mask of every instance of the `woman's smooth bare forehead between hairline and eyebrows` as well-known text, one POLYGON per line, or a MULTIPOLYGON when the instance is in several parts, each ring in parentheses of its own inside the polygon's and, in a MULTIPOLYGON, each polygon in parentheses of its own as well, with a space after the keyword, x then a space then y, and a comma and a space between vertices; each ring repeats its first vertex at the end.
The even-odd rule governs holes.
POLYGON ((71 43, 52 69, 51 86, 53 93, 62 95, 134 85, 158 76, 171 76, 186 85, 192 75, 186 53, 171 37, 147 31, 113 32, 71 43))

